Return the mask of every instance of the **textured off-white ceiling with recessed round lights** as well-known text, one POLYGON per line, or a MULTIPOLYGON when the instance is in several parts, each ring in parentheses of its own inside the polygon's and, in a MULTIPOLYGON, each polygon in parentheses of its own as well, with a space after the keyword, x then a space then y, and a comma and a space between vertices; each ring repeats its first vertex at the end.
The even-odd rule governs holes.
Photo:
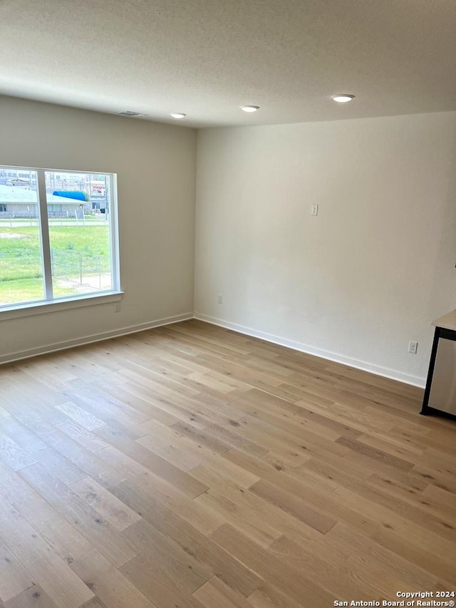
POLYGON ((0 0, 0 93, 196 127, 456 110, 456 1, 0 0))

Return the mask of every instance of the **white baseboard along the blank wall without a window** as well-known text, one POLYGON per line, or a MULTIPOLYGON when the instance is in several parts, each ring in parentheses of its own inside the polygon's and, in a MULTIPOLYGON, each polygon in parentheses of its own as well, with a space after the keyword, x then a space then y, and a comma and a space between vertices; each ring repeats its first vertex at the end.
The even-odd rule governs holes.
POLYGON ((261 340, 273 342, 274 344, 279 344, 280 346, 287 346, 289 349, 300 351, 301 353, 306 353, 309 355, 315 355, 317 357, 321 357, 321 359, 328 359, 329 361, 336 361, 336 363, 348 365, 356 369, 369 371, 371 373, 375 373, 376 376, 383 376, 384 378, 390 378, 391 380, 398 380, 399 382, 404 382, 420 388, 424 388, 426 383, 425 378, 420 378, 420 376, 413 376, 410 373, 403 373, 402 371, 396 371, 395 369, 389 369, 388 367, 371 364, 368 363, 368 361, 352 359, 351 357, 338 353, 318 349, 316 346, 310 346, 309 344, 303 344, 302 342, 296 342, 294 340, 281 338, 280 336, 274 336, 274 334, 266 334, 264 331, 258 331, 257 329, 252 329, 251 327, 230 323, 229 321, 224 321, 223 319, 217 319, 214 316, 208 316, 207 314, 202 314, 200 312, 195 312, 194 316, 195 319, 199 319, 199 321, 206 321, 207 323, 212 323, 213 325, 218 325, 220 327, 224 327, 225 329, 239 331, 239 334, 246 334, 247 336, 260 338, 261 340))

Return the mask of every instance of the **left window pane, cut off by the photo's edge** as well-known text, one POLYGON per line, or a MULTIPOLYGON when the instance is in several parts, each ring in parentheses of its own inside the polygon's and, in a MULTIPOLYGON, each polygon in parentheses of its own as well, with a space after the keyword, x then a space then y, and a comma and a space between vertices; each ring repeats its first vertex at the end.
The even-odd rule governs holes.
POLYGON ((0 306, 41 300, 36 171, 0 166, 0 306))

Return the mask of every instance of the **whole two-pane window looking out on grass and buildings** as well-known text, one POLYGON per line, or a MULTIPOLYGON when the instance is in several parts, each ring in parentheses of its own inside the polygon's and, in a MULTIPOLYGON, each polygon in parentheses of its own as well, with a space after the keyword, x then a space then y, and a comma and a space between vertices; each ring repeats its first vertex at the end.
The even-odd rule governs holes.
POLYGON ((0 166, 0 311, 119 292, 115 175, 0 166), (100 209, 104 210, 103 214, 100 209))

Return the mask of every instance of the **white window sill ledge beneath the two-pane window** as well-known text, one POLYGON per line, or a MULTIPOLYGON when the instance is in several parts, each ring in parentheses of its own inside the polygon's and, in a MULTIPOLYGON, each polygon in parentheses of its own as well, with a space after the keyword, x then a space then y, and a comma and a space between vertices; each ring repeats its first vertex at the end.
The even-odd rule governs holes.
POLYGON ((53 300, 52 302, 31 302, 30 304, 5 306, 4 308, 0 308, 0 321, 21 319, 24 316, 34 316, 47 312, 83 308, 83 306, 97 306, 98 304, 119 302, 123 294, 124 292, 105 292, 104 294, 89 294, 78 298, 62 298, 53 300))

